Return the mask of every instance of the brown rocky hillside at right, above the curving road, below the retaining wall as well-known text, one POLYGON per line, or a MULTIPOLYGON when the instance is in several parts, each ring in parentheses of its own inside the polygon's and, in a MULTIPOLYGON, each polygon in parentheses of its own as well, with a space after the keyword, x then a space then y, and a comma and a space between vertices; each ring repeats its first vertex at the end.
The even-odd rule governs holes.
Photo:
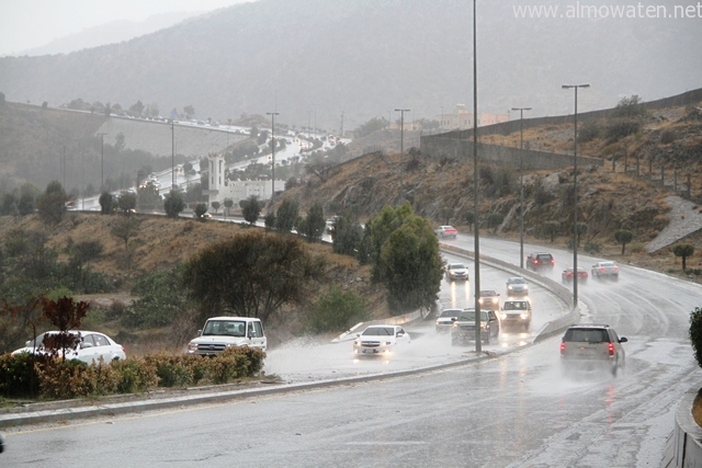
MULTIPOLYGON (((675 270, 669 249, 656 255, 643 251, 668 225, 669 207, 665 198, 673 194, 673 168, 679 173, 679 183, 687 183, 690 175, 692 198, 702 197, 702 118, 693 106, 656 111, 637 122, 636 132, 624 136, 612 132, 613 122, 597 122, 591 124, 587 141, 579 145, 580 155, 604 160, 603 167, 581 168, 578 174, 578 218, 587 224, 582 244, 599 246, 600 254, 616 256, 621 254, 621 246, 613 232, 620 228, 631 229, 634 241, 625 261, 663 271, 675 270), (648 174, 649 163, 655 169, 653 176, 648 174), (667 174, 665 187, 655 179, 661 167, 667 174)), ((581 136, 582 132, 581 128, 581 136)), ((482 141, 519 146, 519 133, 488 135, 482 137, 482 141)), ((567 158, 567 152, 573 150, 573 127, 533 128, 524 133, 524 141, 532 149, 562 152, 567 158)), ((469 230, 466 216, 474 210, 473 165, 430 160, 408 151, 408 146, 405 148, 401 163, 398 152, 376 151, 339 165, 328 180, 310 175, 304 186, 286 191, 285 196, 296 198, 303 209, 318 201, 329 215, 349 210, 361 220, 386 204, 397 205, 408 199, 417 213, 437 225, 453 224, 469 230)), ((518 239, 519 172, 488 165, 482 165, 478 172, 483 232, 518 239)), ((543 228, 552 221, 559 226, 554 243, 566 246, 573 226, 573 175, 571 170, 525 174, 524 225, 530 242, 551 243, 543 228)), ((698 242, 695 237, 691 241, 698 242)), ((688 264, 698 263, 699 260, 693 259, 693 263, 688 264)))

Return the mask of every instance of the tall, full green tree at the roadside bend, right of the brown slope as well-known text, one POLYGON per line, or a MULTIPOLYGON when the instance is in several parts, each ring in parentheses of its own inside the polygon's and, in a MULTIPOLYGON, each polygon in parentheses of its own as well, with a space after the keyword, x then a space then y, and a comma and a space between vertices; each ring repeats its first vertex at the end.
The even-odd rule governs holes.
POLYGON ((442 260, 429 221, 409 202, 386 206, 371 222, 373 278, 386 285, 394 313, 434 307, 441 288, 442 260))

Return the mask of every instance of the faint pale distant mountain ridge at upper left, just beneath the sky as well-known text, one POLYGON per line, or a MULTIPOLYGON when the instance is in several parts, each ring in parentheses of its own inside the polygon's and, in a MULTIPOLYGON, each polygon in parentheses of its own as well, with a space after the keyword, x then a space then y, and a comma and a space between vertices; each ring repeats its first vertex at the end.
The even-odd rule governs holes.
POLYGON ((121 43, 172 26, 196 14, 197 13, 193 12, 174 12, 155 14, 144 21, 111 21, 100 26, 84 28, 80 33, 56 38, 41 47, 21 50, 12 55, 41 56, 69 54, 75 50, 98 47, 102 44, 121 43))

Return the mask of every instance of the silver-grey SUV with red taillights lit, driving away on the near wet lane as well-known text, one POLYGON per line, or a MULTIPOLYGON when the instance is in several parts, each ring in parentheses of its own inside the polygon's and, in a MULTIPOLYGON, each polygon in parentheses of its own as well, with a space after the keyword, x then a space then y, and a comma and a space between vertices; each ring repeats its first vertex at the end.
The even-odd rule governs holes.
POLYGON ((561 363, 566 372, 603 367, 615 376, 624 367, 627 341, 607 324, 573 326, 561 340, 561 363))

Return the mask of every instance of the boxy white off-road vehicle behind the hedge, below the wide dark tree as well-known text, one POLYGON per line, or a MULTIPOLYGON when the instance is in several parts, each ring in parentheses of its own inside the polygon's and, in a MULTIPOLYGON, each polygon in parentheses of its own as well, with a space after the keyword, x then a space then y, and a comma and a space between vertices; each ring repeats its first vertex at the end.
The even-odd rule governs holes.
POLYGON ((261 320, 251 317, 213 317, 199 336, 188 343, 188 354, 211 356, 231 346, 250 346, 265 351, 267 339, 261 320))

